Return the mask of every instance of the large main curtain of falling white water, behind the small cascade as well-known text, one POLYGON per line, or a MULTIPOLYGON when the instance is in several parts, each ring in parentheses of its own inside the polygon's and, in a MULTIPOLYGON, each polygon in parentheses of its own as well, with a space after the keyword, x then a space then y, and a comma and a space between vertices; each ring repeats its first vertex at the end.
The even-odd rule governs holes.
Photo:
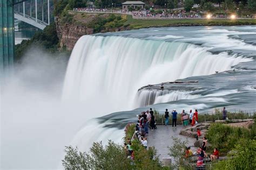
POLYGON ((79 99, 88 107, 100 105, 104 114, 133 109, 142 86, 223 72, 246 61, 251 59, 226 52, 212 54, 185 42, 83 36, 71 54, 63 100, 79 99))

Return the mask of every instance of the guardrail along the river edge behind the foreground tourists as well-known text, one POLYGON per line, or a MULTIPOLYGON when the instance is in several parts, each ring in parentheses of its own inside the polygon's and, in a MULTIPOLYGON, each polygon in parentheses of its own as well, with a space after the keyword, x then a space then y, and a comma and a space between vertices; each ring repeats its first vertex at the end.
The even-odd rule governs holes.
MULTIPOLYGON (((169 124, 172 124, 172 114, 169 114, 169 124)), ((227 118, 229 120, 234 119, 252 119, 256 116, 256 112, 238 112, 238 113, 228 113, 227 118)), ((164 114, 154 115, 156 117, 156 123, 158 125, 165 125, 164 114)), ((223 119, 222 113, 211 113, 211 114, 198 114, 198 122, 215 122, 223 119)), ((182 124, 181 115, 177 115, 177 124, 182 124)))

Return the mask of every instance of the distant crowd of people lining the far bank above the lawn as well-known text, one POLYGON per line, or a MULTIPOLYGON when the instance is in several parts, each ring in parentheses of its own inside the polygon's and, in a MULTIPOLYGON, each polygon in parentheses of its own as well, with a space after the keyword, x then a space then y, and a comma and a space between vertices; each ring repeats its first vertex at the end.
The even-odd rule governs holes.
POLYGON ((167 10, 163 10, 160 13, 156 13, 151 10, 127 11, 115 9, 75 8, 73 9, 73 11, 124 13, 132 15, 133 17, 142 18, 200 18, 198 12, 190 11, 189 13, 187 13, 185 10, 172 12, 167 12, 167 10))

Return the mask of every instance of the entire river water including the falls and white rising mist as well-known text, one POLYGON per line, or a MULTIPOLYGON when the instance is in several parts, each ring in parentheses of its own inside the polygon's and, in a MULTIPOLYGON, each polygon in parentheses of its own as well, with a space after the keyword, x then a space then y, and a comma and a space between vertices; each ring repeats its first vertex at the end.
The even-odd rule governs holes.
POLYGON ((60 168, 64 146, 121 142, 149 108, 253 111, 255 45, 256 26, 202 26, 84 36, 68 67, 31 49, 3 90, 1 167, 60 168))

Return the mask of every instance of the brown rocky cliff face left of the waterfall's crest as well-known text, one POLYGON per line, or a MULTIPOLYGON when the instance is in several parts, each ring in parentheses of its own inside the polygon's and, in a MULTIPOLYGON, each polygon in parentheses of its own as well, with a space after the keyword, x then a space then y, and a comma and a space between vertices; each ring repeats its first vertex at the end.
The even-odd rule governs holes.
POLYGON ((68 51, 73 49, 80 37, 93 34, 93 29, 83 25, 60 24, 59 18, 56 18, 56 29, 60 48, 66 48, 68 51))

